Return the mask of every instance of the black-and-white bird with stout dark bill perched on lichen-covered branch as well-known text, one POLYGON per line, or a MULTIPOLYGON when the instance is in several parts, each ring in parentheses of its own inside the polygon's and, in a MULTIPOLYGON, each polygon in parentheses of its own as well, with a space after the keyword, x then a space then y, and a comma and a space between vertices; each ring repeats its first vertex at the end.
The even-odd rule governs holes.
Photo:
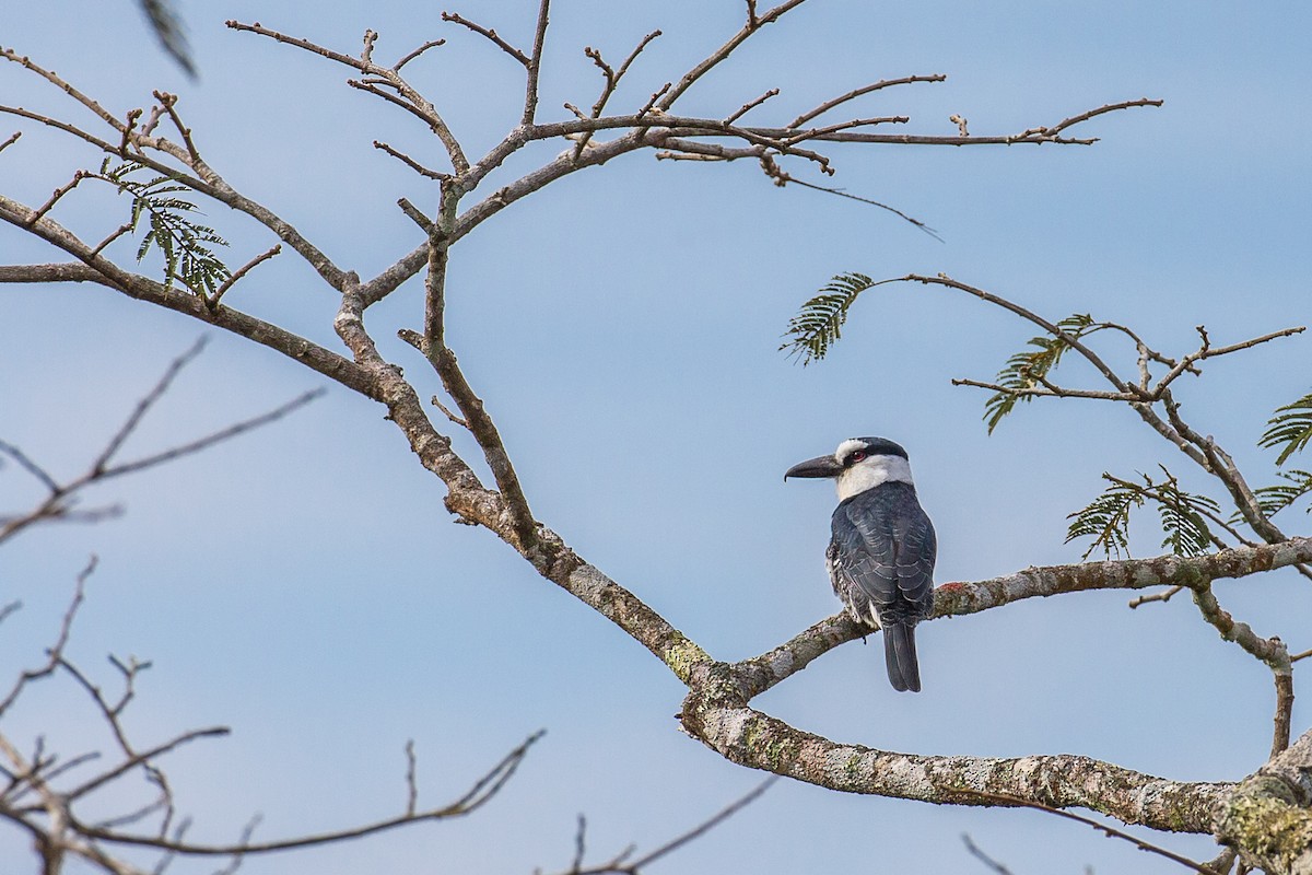
POLYGON ((887 438, 849 438, 833 455, 783 475, 828 478, 838 489, 825 551, 833 592, 861 623, 884 632, 888 681, 920 693, 916 623, 934 610, 934 523, 920 506, 907 450, 887 438))

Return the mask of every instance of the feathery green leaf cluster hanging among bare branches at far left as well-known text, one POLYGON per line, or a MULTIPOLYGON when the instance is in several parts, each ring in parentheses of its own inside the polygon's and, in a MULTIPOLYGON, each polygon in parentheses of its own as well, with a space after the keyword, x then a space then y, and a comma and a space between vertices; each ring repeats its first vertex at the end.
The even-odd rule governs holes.
POLYGON ((226 247, 227 240, 214 228, 192 222, 189 215, 199 214, 197 206, 173 197, 177 192, 189 190, 185 185, 169 176, 133 177, 147 169, 136 161, 112 168, 109 159, 100 168, 100 178, 118 186, 119 194, 126 192, 133 195, 131 230, 136 231, 142 216, 148 216, 150 230, 136 248, 136 260, 142 261, 151 248, 157 248, 164 258, 165 287, 172 287, 176 281, 202 298, 213 295, 232 272, 210 247, 226 247))

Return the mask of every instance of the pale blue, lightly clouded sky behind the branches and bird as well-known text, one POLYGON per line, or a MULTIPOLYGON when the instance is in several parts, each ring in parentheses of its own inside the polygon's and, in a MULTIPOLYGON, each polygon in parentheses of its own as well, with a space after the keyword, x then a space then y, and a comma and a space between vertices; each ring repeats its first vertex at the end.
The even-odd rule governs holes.
MULTIPOLYGON (((8 13, 3 41, 122 114, 152 88, 180 110, 207 160, 345 268, 373 275, 419 243, 398 197, 436 189, 371 147, 387 140, 438 164, 413 119, 344 85, 344 68, 223 28, 261 21, 344 51, 365 28, 379 56, 447 45, 407 68, 480 152, 517 121, 518 67, 413 3, 184 4, 201 80, 159 52, 135 9, 50 3, 8 13), (62 24, 84 22, 76 30, 62 24), (94 22, 94 26, 91 24, 94 22)), ((450 7, 526 43, 535 3, 450 7)), ((613 106, 638 106, 732 33, 743 4, 558 0, 543 118, 590 105, 583 46, 618 60, 656 41, 613 106)), ((836 147, 832 184, 893 205, 942 241, 890 215, 798 188, 749 164, 632 155, 527 198, 462 240, 453 256, 449 340, 496 417, 537 516, 585 558, 722 659, 741 659, 830 614, 823 548, 833 502, 782 484, 794 462, 853 434, 908 447, 939 534, 938 580, 979 580, 1073 561, 1065 514, 1102 471, 1164 462, 1202 485, 1128 412, 1031 404, 992 436, 987 379, 1033 331, 943 290, 888 287, 853 311, 824 362, 775 350, 802 300, 844 270, 946 272, 1051 317, 1124 321, 1168 354, 1307 321, 1312 75, 1309 13, 1292 4, 827 4, 762 33, 687 94, 685 110, 728 114, 766 88, 791 118, 882 77, 949 80, 884 92, 861 114, 905 113, 916 132, 1006 134, 1106 102, 1161 109, 1081 129, 1093 147, 836 147)), ((50 113, 70 101, 16 66, 0 102, 50 113)), ((769 105, 768 105, 769 108, 769 105)), ((846 117, 845 113, 838 113, 846 117)), ((0 155, 0 190, 39 203, 92 152, 28 123, 0 155)), ((546 144, 504 180, 562 151, 546 144)), ((807 174, 804 167, 794 168, 807 174)), ((804 176, 804 178, 812 178, 804 176)), ((56 218, 110 230, 126 206, 88 193, 56 218)), ((272 244, 218 207, 206 216, 243 261, 272 244)), ((104 231, 101 231, 104 234, 104 231)), ((56 258, 0 232, 5 262, 56 258)), ((231 303, 336 348, 335 302, 283 254, 231 303)), ((396 328, 417 328, 411 283, 373 317, 384 353, 419 373, 396 328)), ((205 329, 101 289, 0 290, 0 437, 56 474, 80 471, 135 400, 205 329)), ((186 439, 323 384, 237 338, 178 380, 129 454, 186 439)), ((1181 390, 1185 413, 1253 479, 1270 411, 1308 391, 1308 341, 1211 363, 1181 390)), ((1114 348, 1109 348, 1114 349, 1114 348)), ((1110 353, 1109 353, 1110 354, 1110 353)), ((1130 350, 1119 361, 1132 367, 1130 350)), ((1090 375, 1072 366, 1071 382, 1090 375)), ((421 392, 434 391, 420 380, 421 392)), ((466 458, 478 453, 455 436, 466 458)), ((34 493, 0 470, 7 509, 34 493)), ((421 803, 454 798, 525 736, 546 728, 504 794, 476 816, 331 851, 249 861, 247 872, 530 871, 564 868, 576 815, 597 858, 655 846, 745 792, 760 775, 677 731, 681 687, 649 655, 535 577, 483 531, 451 525, 441 484, 413 460, 382 409, 329 387, 295 417, 94 496, 127 514, 92 529, 37 531, 0 552, 0 665, 39 660, 88 554, 101 564, 72 655, 104 670, 108 652, 151 659, 131 725, 147 739, 228 724, 234 736, 172 761, 197 838, 345 826, 404 803, 407 739, 421 803)), ((1287 530, 1305 530, 1292 512, 1287 530)), ((1136 555, 1157 552, 1143 529, 1136 555)), ((1312 596, 1294 575, 1219 586, 1221 603, 1294 649, 1312 596)), ((830 739, 918 753, 1082 753, 1169 778, 1233 779, 1270 744, 1269 672, 1218 640, 1183 597, 1136 611, 1124 594, 1085 594, 935 622, 920 632, 925 691, 897 695, 878 647, 825 656, 757 704, 830 739)), ((1308 725, 1305 704, 1295 732, 1308 725)), ((12 718, 72 750, 101 744, 91 711, 55 685, 12 718)), ((1173 866, 1035 812, 971 811, 841 796, 781 783, 760 803, 661 865, 668 871, 977 872, 974 840, 1013 871, 1157 872, 1173 866)), ((26 853, 0 832, 0 854, 26 853)), ((1197 858, 1206 838, 1164 840, 1197 858)), ((653 871, 660 871, 653 867, 653 871)))

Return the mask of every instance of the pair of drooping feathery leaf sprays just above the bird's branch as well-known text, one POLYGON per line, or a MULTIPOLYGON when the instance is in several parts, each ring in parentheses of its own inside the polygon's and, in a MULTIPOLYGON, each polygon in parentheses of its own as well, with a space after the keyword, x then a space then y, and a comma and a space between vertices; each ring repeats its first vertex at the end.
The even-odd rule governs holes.
POLYGON ((1161 529, 1165 538, 1162 547, 1178 556, 1198 556, 1210 552, 1216 542, 1207 525, 1207 514, 1215 516, 1220 505, 1204 495, 1195 495, 1179 488, 1174 475, 1161 467, 1165 478, 1155 483, 1147 474, 1139 474, 1143 484, 1103 474, 1111 485, 1094 499, 1086 508, 1069 514, 1071 527, 1067 542, 1076 538, 1093 538, 1082 559, 1102 548, 1110 559, 1130 555, 1130 512, 1151 501, 1157 506, 1161 529))

